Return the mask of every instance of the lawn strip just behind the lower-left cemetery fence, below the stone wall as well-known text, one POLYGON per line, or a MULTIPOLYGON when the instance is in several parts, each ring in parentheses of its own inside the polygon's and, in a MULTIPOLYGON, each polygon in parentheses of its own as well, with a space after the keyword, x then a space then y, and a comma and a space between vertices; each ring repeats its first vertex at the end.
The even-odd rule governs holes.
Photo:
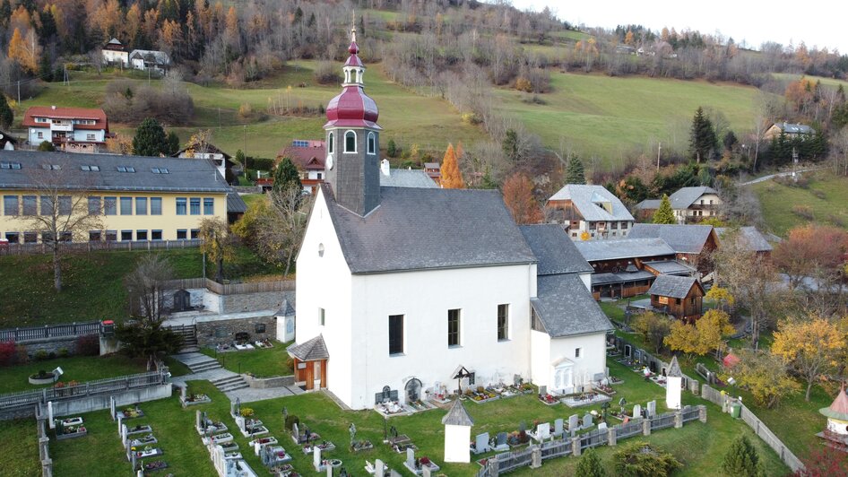
POLYGON ((56 366, 61 366, 65 374, 59 378, 60 381, 84 383, 85 381, 106 377, 143 373, 147 370, 144 363, 144 360, 131 360, 123 354, 114 354, 107 356, 71 356, 0 368, 0 394, 32 391, 52 386, 34 386, 27 381, 27 377, 38 373, 41 369, 52 371, 56 369, 56 366))

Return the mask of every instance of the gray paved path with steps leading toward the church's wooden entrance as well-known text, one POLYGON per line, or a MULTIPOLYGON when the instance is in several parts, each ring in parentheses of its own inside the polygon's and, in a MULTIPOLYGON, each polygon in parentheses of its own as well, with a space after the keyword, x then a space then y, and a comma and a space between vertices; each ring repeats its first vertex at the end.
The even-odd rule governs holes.
POLYGON ((255 401, 264 401, 265 399, 275 399, 289 395, 299 395, 303 391, 298 386, 282 386, 270 388, 255 388, 248 387, 247 383, 243 386, 234 386, 234 381, 244 383, 244 379, 238 373, 228 369, 221 368, 218 361, 199 352, 187 352, 173 355, 175 360, 178 360, 188 366, 192 370, 190 374, 185 376, 172 377, 171 382, 177 386, 185 386, 186 381, 210 381, 213 385, 227 395, 230 401, 235 401, 237 398, 242 403, 252 403, 255 401))

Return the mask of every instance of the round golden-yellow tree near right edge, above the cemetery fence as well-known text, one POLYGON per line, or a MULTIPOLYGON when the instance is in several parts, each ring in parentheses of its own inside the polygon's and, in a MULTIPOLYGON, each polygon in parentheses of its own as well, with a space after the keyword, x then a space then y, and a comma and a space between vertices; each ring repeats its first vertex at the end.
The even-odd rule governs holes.
POLYGON ((834 323, 820 317, 800 321, 783 321, 774 333, 772 353, 779 356, 807 381, 807 394, 813 383, 837 365, 844 351, 844 334, 834 323))

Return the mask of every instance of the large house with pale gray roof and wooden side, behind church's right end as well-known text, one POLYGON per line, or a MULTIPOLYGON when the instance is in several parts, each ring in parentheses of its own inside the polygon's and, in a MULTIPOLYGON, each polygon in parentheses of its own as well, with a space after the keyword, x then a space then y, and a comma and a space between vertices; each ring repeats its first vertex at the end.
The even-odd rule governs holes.
POLYGON ((550 196, 548 206, 575 241, 624 239, 633 227, 633 215, 603 186, 567 184, 550 196))

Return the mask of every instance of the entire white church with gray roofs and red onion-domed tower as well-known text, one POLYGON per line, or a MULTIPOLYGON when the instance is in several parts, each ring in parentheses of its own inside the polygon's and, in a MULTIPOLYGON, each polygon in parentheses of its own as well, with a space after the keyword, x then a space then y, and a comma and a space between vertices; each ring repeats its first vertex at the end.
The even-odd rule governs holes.
POLYGON ((599 381, 612 325, 558 225, 517 226, 498 191, 380 185, 379 112, 351 37, 298 256, 296 381, 352 409, 457 376, 558 394, 599 381))

